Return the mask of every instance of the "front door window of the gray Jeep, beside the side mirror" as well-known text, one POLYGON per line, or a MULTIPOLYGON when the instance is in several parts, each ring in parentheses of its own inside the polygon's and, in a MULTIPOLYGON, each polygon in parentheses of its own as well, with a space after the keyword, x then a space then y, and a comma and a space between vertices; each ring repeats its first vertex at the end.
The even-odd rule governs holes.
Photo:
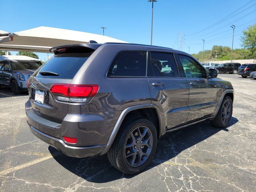
POLYGON ((186 77, 206 78, 205 70, 192 58, 179 55, 186 77))

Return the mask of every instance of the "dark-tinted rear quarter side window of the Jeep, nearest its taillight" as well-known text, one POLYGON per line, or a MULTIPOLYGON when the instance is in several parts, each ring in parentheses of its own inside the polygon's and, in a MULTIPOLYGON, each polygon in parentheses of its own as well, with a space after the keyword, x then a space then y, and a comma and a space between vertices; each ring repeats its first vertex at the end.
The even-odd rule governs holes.
POLYGON ((146 76, 146 55, 145 51, 120 53, 110 68, 110 76, 146 76))

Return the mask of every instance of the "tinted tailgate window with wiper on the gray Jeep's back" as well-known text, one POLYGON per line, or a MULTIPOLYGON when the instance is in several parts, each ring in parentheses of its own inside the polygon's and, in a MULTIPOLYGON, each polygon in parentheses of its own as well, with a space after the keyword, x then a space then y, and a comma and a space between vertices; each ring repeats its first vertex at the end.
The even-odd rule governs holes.
POLYGON ((89 53, 63 53, 54 55, 50 60, 43 64, 36 76, 44 78, 72 79, 81 66, 90 57, 89 53), (40 71, 57 73, 58 76, 41 75, 40 71))

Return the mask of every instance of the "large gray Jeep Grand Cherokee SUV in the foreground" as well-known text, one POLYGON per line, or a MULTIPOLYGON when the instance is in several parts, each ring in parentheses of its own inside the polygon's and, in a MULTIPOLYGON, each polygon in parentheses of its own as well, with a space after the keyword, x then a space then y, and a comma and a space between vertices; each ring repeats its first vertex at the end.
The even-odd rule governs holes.
POLYGON ((30 130, 72 157, 107 153, 126 174, 142 171, 167 132, 204 120, 226 128, 234 90, 185 52, 138 44, 74 44, 28 80, 30 130))

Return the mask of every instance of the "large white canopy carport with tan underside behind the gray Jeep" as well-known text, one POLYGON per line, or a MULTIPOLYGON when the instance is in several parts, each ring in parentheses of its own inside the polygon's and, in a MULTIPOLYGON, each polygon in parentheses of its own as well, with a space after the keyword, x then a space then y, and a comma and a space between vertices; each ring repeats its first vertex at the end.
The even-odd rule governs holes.
POLYGON ((5 51, 49 52, 54 46, 89 43, 90 40, 126 43, 108 36, 43 26, 14 33, 0 30, 0 50, 5 51))

